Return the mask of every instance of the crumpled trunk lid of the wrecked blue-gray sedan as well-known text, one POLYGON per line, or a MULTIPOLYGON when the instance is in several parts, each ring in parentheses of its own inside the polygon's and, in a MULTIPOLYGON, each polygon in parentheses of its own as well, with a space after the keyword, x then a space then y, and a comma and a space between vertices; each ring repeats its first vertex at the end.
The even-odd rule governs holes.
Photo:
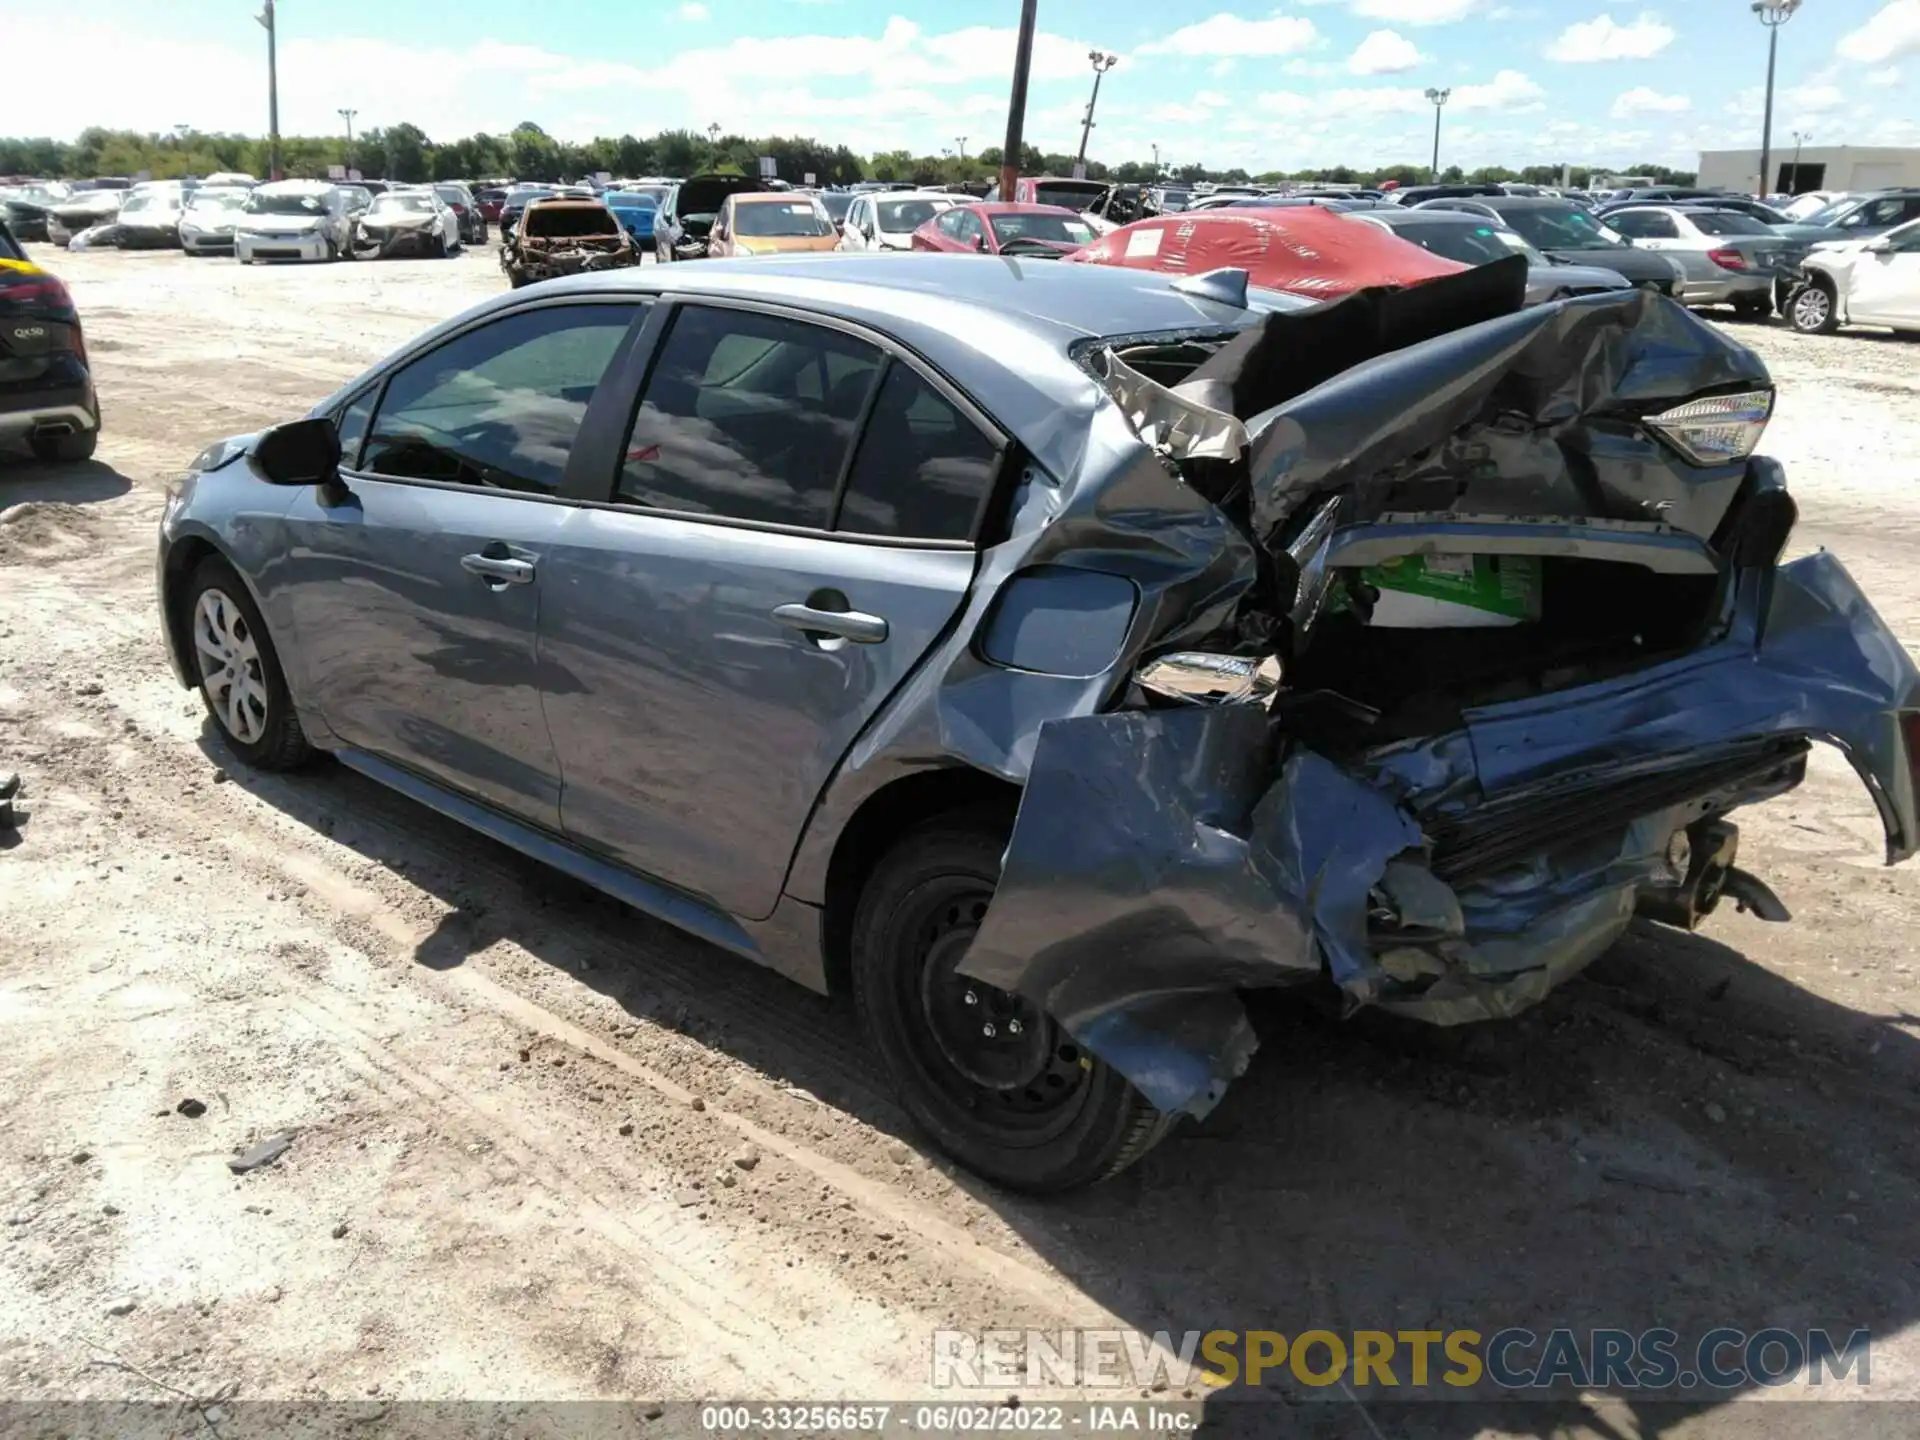
POLYGON ((1745 463, 1688 463, 1645 419, 1701 394, 1772 388, 1753 351, 1640 290, 1448 328, 1354 365, 1338 342, 1332 355, 1302 344, 1334 309, 1271 315, 1238 342, 1261 376, 1240 386, 1260 413, 1236 413, 1248 417, 1250 524, 1269 545, 1336 492, 1356 522, 1394 511, 1561 516, 1711 538, 1745 463))

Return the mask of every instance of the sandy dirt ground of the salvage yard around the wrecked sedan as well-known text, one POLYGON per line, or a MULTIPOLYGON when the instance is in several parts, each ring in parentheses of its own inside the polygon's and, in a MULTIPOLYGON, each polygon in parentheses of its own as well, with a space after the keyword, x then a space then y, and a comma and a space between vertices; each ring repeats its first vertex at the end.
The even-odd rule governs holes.
MULTIPOLYGON (((1880 868, 1832 753, 1738 816, 1795 924, 1636 927, 1505 1025, 1265 1004, 1206 1125, 1014 1198, 922 1146, 845 1006, 338 766, 250 774, 175 687, 169 476, 501 290, 492 252, 36 259, 106 432, 92 465, 0 468, 0 772, 31 810, 0 841, 0 1396, 885 1400, 929 1396, 943 1327, 1780 1325, 1872 1331, 1872 1384, 1814 1394, 1920 1398, 1920 864, 1880 868)), ((1920 651, 1920 346, 1740 336, 1780 382, 1795 549, 1920 651)), ((1313 1434, 1914 1415, 1269 1380, 1313 1434)))

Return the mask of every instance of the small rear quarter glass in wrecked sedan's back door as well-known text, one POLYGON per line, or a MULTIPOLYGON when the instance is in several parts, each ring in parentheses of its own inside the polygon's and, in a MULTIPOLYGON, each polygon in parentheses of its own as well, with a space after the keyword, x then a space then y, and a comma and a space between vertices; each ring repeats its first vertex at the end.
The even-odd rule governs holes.
POLYGON ((968 540, 1000 447, 906 365, 893 365, 860 436, 837 530, 968 540))

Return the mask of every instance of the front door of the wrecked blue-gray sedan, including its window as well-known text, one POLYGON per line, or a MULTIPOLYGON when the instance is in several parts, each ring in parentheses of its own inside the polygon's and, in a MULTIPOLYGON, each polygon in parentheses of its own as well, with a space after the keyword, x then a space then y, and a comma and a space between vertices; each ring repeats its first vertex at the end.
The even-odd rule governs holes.
POLYGON ((555 501, 634 303, 538 305, 465 330, 349 409, 344 492, 288 511, 309 701, 372 751, 559 828, 538 626, 555 501))

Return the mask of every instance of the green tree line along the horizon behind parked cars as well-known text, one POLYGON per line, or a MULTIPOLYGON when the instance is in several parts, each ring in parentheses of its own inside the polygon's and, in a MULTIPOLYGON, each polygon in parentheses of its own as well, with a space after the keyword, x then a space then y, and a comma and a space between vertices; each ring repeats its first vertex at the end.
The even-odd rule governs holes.
MULTIPOLYGON (((509 134, 468 134, 461 140, 432 140, 417 125, 388 125, 353 136, 351 150, 344 134, 286 134, 280 136, 280 169, 290 177, 324 177, 330 165, 351 165, 363 175, 384 180, 465 180, 513 177, 516 180, 578 180, 607 171, 616 177, 636 175, 693 175, 703 169, 737 169, 753 173, 760 156, 772 156, 780 177, 799 182, 806 175, 820 184, 851 184, 852 180, 912 180, 916 184, 958 184, 987 180, 1000 169, 1000 150, 987 146, 972 156, 941 154, 914 156, 908 150, 885 150, 860 156, 847 146, 829 146, 806 136, 743 136, 697 134, 693 131, 660 131, 653 136, 601 136, 586 144, 557 140, 532 121, 516 125, 509 134)), ((182 175, 211 175, 215 171, 246 171, 265 177, 267 140, 253 134, 205 134, 179 129, 171 134, 140 134, 136 131, 88 129, 75 140, 0 138, 0 175, 31 175, 38 179, 79 180, 94 175, 138 175, 146 171, 156 180, 182 175)), ((1023 175, 1071 175, 1073 157, 1044 154, 1021 146, 1023 175)), ((1150 159, 1129 159, 1119 165, 1087 163, 1096 180, 1144 182, 1154 179, 1150 159)), ((1663 165, 1632 165, 1628 175, 1651 175, 1659 184, 1688 184, 1693 177, 1663 165)), ((1336 180, 1346 184, 1379 184, 1400 180, 1415 184, 1427 179, 1423 165, 1386 165, 1356 169, 1261 171, 1210 169, 1206 165, 1169 165, 1165 179, 1192 184, 1215 180, 1246 184, 1250 180, 1336 180)), ((1586 184, 1592 171, 1576 167, 1574 184, 1586 184)), ((1524 169, 1486 167, 1463 173, 1457 165, 1444 171, 1448 180, 1528 180, 1555 184, 1557 165, 1528 165, 1524 169)))

